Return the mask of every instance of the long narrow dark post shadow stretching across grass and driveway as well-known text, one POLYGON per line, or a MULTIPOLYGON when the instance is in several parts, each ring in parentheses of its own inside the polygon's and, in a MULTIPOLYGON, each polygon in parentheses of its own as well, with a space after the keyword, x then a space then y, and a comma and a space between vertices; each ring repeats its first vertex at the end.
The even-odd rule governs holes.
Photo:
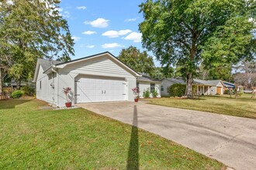
POLYGON ((139 169, 139 135, 138 135, 137 106, 133 107, 133 127, 130 134, 126 169, 139 169))

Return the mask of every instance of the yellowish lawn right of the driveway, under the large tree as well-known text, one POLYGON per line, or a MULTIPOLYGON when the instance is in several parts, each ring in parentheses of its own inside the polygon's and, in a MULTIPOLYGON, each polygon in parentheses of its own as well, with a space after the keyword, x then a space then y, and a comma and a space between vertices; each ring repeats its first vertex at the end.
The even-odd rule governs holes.
POLYGON ((229 95, 201 96, 199 99, 156 98, 147 99, 150 104, 167 107, 178 107, 189 110, 201 110, 216 114, 227 114, 238 117, 256 118, 256 97, 251 94, 243 94, 237 99, 229 95))

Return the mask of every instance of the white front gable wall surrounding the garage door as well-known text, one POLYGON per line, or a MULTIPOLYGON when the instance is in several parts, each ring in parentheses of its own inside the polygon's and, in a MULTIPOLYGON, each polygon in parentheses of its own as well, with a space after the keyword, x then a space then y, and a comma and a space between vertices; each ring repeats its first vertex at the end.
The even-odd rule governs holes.
POLYGON ((88 59, 83 62, 73 63, 65 66, 63 69, 59 69, 58 78, 58 106, 64 107, 66 96, 63 93, 63 88, 71 87, 72 92, 72 104, 75 102, 75 80, 78 75, 81 76, 107 76, 118 77, 126 80, 126 100, 133 101, 132 88, 136 87, 136 78, 123 67, 115 63, 109 56, 102 56, 95 59, 88 59))

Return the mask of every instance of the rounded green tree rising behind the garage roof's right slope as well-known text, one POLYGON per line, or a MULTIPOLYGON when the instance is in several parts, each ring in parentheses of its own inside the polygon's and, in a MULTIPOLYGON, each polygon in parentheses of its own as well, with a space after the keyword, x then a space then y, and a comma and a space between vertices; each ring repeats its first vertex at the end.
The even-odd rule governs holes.
POLYGON ((140 53, 140 49, 137 49, 135 46, 122 49, 118 59, 137 72, 150 75, 154 72, 153 57, 149 56, 146 51, 140 53))

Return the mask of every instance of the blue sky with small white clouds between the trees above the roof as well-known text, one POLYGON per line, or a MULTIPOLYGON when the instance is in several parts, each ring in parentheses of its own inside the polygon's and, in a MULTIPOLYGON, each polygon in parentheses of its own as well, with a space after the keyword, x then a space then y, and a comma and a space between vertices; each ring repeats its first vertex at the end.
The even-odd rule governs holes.
POLYGON ((143 0, 61 0, 61 15, 67 20, 74 39, 72 59, 109 51, 115 56, 123 48, 141 51, 138 25, 143 0))

